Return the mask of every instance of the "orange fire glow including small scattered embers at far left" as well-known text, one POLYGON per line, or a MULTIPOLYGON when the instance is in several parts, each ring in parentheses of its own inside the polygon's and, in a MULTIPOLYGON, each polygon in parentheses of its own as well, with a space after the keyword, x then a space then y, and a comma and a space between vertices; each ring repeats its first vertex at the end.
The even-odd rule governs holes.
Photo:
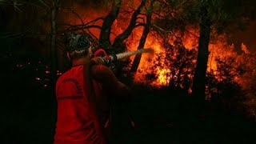
MULTIPOLYGON (((122 32, 126 30, 126 27, 129 26, 132 13, 123 13, 123 10, 135 10, 137 9, 139 3, 140 1, 138 0, 122 2, 122 10, 120 10, 121 13, 118 14, 118 18, 114 21, 114 24, 111 27, 110 42, 114 42, 114 38, 116 38, 118 34, 122 34, 122 32)), ((74 10, 77 14, 82 16, 81 18, 83 22, 90 22, 93 21, 95 18, 100 18, 102 16, 105 17, 106 14, 110 12, 110 6, 109 8, 100 7, 98 9, 95 9, 94 7, 90 6, 86 6, 85 8, 84 6, 74 4, 74 10)), ((145 10, 143 11, 143 13, 145 14, 145 10)), ((61 21, 63 23, 67 23, 70 25, 82 24, 81 19, 79 19, 75 14, 72 14, 70 10, 62 9, 62 14, 64 16, 63 18, 61 18, 61 21)), ((145 15, 139 15, 139 17, 145 18, 145 15)), ((102 20, 98 20, 94 24, 102 26, 102 22, 102 20)), ((141 22, 141 19, 138 20, 138 22, 141 22)), ((133 30, 132 34, 130 34, 130 37, 126 40, 126 50, 137 50, 139 40, 142 36, 142 31, 142 26, 138 26, 133 30)), ((100 30, 98 30, 97 28, 91 28, 90 33, 94 34, 96 38, 99 38, 100 30)), ((186 50, 194 50, 196 52, 199 38, 198 27, 187 26, 184 34, 180 34, 180 32, 178 31, 174 31, 174 34, 178 36, 182 35, 182 46, 184 46, 186 50)), ((241 74, 235 75, 234 79, 232 80, 234 82, 238 82, 242 89, 246 91, 246 97, 249 99, 246 102, 246 105, 250 107, 255 107, 256 98, 254 86, 256 86, 256 53, 252 53, 250 50, 248 50, 245 43, 241 43, 242 54, 238 54, 237 50, 235 50, 234 44, 227 42, 226 38, 228 37, 226 34, 219 35, 215 34, 215 32, 213 31, 210 38, 210 44, 208 47, 209 58, 207 71, 210 72, 210 74, 213 74, 213 77, 216 78, 218 82, 221 82, 223 78, 222 74, 219 74, 219 63, 216 58, 219 58, 223 62, 227 62, 233 58, 234 62, 231 64, 234 68, 234 73, 241 69, 239 71, 239 73, 241 74), (254 91, 251 92, 251 90, 254 91)), ((191 83, 193 80, 193 71, 196 63, 196 53, 191 54, 194 55, 194 57, 190 58, 189 61, 186 59, 187 55, 182 54, 182 58, 185 58, 185 60, 181 59, 180 63, 174 63, 176 61, 178 62, 177 49, 181 46, 175 47, 175 50, 173 50, 170 55, 168 55, 170 56, 169 60, 166 60, 166 47, 163 46, 162 41, 163 39, 159 37, 158 34, 154 34, 154 32, 152 31, 150 32, 150 34, 148 34, 144 47, 153 49, 154 55, 152 56, 150 54, 142 54, 137 73, 134 75, 134 82, 145 82, 146 84, 150 84, 151 86, 158 87, 168 86, 171 84, 171 86, 174 85, 185 88, 185 90, 187 90, 187 92, 191 94, 191 83), (158 62, 157 65, 156 62, 158 62), (185 63, 185 66, 187 67, 181 68, 182 62, 185 63), (179 74, 180 72, 181 74, 179 74), (151 79, 148 80, 147 78, 151 79), (179 81, 184 81, 184 83, 179 81)), ((168 39, 168 41, 171 45, 174 46, 175 37, 172 35, 171 38, 168 39)), ((131 56, 130 64, 132 64, 133 60, 134 56, 131 56)), ((22 67, 22 65, 17 66, 22 67)), ((62 73, 57 72, 57 74, 61 75, 62 73)), ((43 86, 47 87, 47 85, 43 86)), ((210 86, 206 86, 206 93, 208 92, 207 89, 210 89, 210 86)), ((214 89, 212 89, 212 91, 217 92, 218 90, 215 87, 214 89)), ((208 99, 211 98, 211 95, 209 93, 207 93, 206 95, 208 99)), ((251 110, 251 113, 256 115, 255 108, 251 110)))

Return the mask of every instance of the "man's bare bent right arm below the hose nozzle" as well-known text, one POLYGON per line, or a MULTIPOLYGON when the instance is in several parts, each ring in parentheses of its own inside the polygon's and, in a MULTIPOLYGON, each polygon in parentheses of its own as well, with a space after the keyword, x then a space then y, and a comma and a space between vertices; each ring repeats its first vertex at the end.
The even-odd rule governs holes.
POLYGON ((130 89, 115 77, 113 71, 104 65, 95 65, 92 67, 92 76, 102 83, 102 86, 110 95, 115 97, 127 98, 130 95, 130 89))

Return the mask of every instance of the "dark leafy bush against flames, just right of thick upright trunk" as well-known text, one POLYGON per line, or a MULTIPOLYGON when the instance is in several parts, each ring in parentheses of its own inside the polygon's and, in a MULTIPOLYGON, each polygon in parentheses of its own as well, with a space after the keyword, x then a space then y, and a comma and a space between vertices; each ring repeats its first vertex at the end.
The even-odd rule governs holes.
POLYGON ((245 102, 245 92, 235 81, 238 78, 238 70, 234 58, 219 59, 216 58, 217 70, 211 70, 207 74, 206 91, 209 99, 221 102, 228 106, 228 109, 241 109, 245 102), (214 78, 212 77, 214 76, 214 78))

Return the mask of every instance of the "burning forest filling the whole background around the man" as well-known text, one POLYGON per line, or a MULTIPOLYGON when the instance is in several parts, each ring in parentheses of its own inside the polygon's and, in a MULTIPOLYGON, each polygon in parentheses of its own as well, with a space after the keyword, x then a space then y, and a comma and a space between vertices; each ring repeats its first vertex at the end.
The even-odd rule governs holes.
MULTIPOLYGON (((12 89, 12 82, 18 86, 27 81, 20 88, 24 94, 32 88, 29 94, 54 95, 56 80, 70 69, 63 42, 63 34, 68 32, 85 34, 95 50, 109 55, 150 49, 154 53, 133 54, 110 66, 135 96, 128 111, 134 113, 137 133, 124 126, 130 136, 127 142, 209 143, 224 139, 252 143, 255 140, 242 126, 250 130, 256 127, 256 38, 243 42, 242 37, 251 40, 251 35, 245 35, 250 30, 255 32, 254 5, 254 1, 239 0, 2 0, 0 20, 6 24, 0 25, 4 28, 0 40, 6 49, 1 51, 1 62, 3 66, 9 64, 3 74, 10 75, 2 78, 9 86, 6 90, 12 89), (245 134, 238 138, 233 137, 240 127, 227 124, 232 118, 236 124, 249 123, 241 124, 245 134), (136 134, 146 130, 143 126, 150 126, 150 132, 144 134, 145 138, 137 138, 136 134), (228 127, 226 133, 236 132, 215 134, 221 126, 228 127), (158 127, 164 131, 161 134, 173 137, 158 136, 158 127), (197 129, 197 136, 188 134, 191 129, 197 129), (205 134, 207 130, 211 132, 205 134), (147 139, 150 134, 163 138, 162 142, 147 139)), ((56 109, 54 97, 43 99, 56 109)), ((26 106, 29 109, 32 105, 26 106)), ((50 114, 54 115, 52 111, 50 114)), ((53 123, 54 119, 49 121, 53 123)), ((50 138, 46 141, 52 142, 50 138)))

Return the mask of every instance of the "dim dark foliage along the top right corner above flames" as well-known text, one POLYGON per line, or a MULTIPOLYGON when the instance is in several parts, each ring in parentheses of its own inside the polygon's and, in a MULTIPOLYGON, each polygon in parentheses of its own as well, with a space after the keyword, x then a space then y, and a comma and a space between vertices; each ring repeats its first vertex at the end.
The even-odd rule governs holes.
POLYGON ((219 33, 224 30, 238 29, 248 25, 249 18, 254 18, 255 1, 242 0, 167 0, 161 2, 163 15, 158 17, 158 24, 165 23, 166 30, 175 26, 197 24, 200 22, 200 7, 206 6, 210 21, 219 33), (167 13, 169 11, 170 13, 167 13), (170 15, 171 14, 171 15, 170 15))

